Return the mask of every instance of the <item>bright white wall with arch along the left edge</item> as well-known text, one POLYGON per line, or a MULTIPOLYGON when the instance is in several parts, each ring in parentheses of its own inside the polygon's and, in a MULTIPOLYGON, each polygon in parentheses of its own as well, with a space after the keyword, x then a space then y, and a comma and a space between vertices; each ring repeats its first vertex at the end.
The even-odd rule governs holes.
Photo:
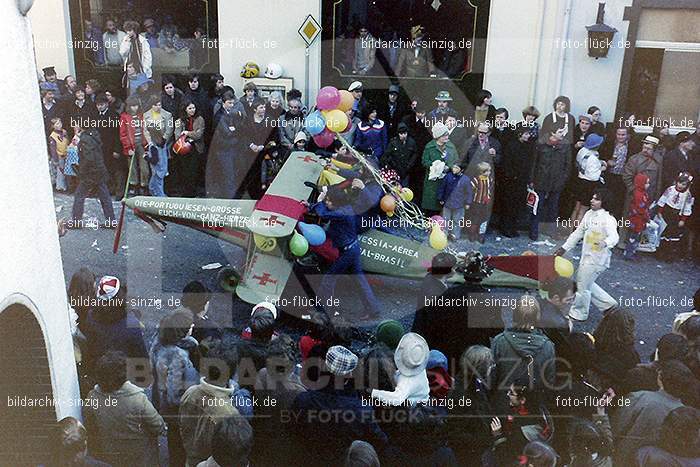
MULTIPOLYGON (((47 149, 32 54, 30 21, 16 0, 0 0, 3 43, 0 63, 6 76, 0 100, 15 112, 5 112, 3 171, 11 176, 0 183, 0 311, 8 297, 21 297, 40 315, 47 344, 56 416, 80 417, 73 345, 68 324, 65 280, 58 244, 56 212, 47 165, 47 149)), ((15 301, 10 298, 11 301, 15 301)))

